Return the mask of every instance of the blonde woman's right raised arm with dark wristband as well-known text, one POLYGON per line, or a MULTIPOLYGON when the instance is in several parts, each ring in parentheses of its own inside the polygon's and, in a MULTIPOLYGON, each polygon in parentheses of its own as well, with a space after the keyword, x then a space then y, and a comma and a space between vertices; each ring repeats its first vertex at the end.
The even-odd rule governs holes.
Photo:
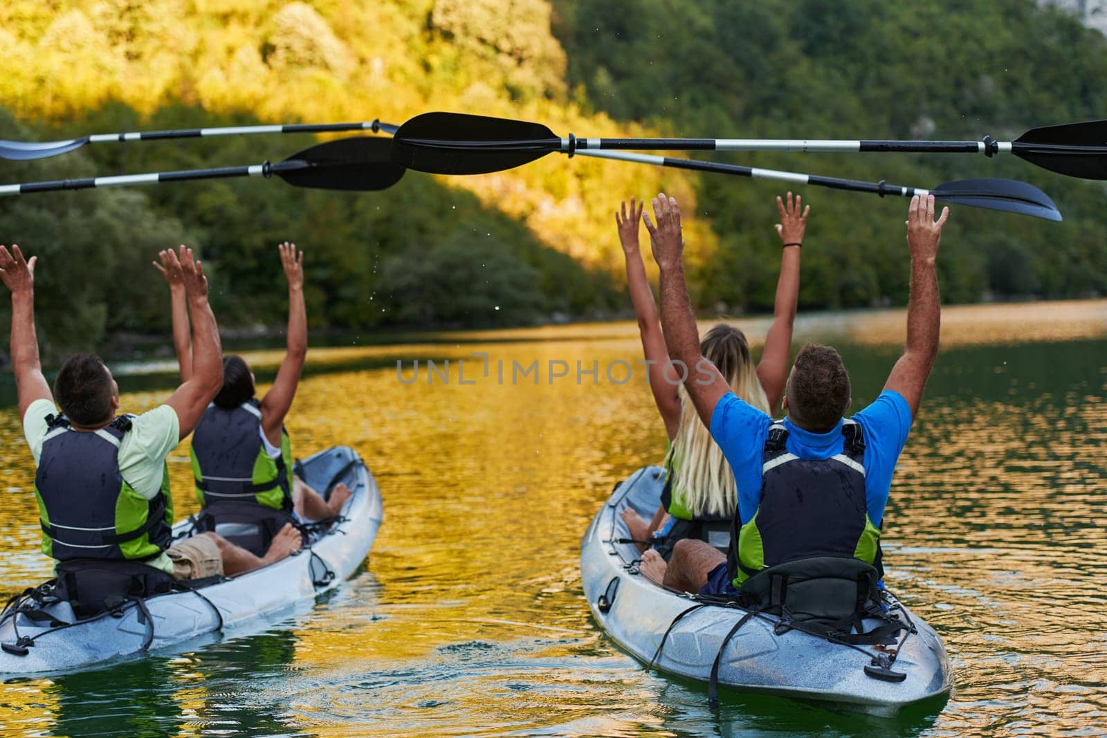
POLYGON ((780 211, 780 222, 776 232, 784 243, 780 254, 780 277, 776 281, 776 302, 773 305, 773 324, 765 336, 765 350, 757 364, 757 378, 768 398, 769 408, 775 408, 788 382, 788 353, 792 351, 792 326, 796 322, 796 301, 799 298, 799 249, 807 230, 807 215, 811 206, 803 208, 804 198, 788 193, 788 205, 777 197, 776 207, 780 211), (803 212, 803 215, 800 215, 803 212))

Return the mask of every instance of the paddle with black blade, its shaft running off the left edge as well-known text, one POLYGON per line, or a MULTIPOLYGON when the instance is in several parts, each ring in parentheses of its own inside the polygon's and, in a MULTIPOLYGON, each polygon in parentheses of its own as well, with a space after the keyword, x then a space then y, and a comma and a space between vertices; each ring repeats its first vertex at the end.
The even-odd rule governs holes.
POLYGON ((271 177, 277 175, 296 187, 315 189, 377 190, 386 189, 404 176, 404 167, 394 164, 387 138, 340 138, 306 148, 283 162, 265 162, 251 166, 218 169, 186 169, 117 177, 58 179, 22 185, 0 185, 0 196, 28 193, 51 193, 92 187, 154 185, 186 179, 224 179, 228 177, 271 177))

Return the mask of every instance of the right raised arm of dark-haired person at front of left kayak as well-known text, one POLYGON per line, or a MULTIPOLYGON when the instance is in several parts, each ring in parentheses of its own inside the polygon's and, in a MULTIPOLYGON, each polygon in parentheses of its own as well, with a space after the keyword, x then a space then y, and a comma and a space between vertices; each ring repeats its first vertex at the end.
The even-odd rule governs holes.
POLYGON ((284 361, 280 363, 273 386, 261 401, 261 428, 273 446, 280 446, 280 429, 300 384, 303 360, 308 355, 308 309, 303 303, 303 251, 296 243, 279 247, 280 262, 288 280, 288 335, 284 361))

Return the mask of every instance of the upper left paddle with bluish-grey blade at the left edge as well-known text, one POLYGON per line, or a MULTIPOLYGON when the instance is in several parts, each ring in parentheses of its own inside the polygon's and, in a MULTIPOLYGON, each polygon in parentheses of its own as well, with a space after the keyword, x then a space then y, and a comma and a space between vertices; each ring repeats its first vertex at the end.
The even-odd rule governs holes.
POLYGON ((179 131, 146 131, 135 133, 100 133, 70 141, 4 141, 0 138, 0 159, 28 162, 68 154, 86 144, 131 141, 165 141, 167 138, 208 138, 214 136, 256 136, 270 133, 333 133, 337 131, 372 131, 395 133, 396 126, 380 121, 365 123, 296 123, 289 125, 247 125, 230 128, 183 128, 179 131))

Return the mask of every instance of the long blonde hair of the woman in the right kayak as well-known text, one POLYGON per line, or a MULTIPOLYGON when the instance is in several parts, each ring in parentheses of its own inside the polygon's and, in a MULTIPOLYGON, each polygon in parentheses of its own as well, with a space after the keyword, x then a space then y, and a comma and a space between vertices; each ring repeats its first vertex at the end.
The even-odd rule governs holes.
MULTIPOLYGON (((745 334, 720 323, 703 337, 700 352, 718 370, 734 394, 759 410, 772 415, 768 398, 757 377, 757 366, 749 353, 745 334)), ((694 375, 695 370, 692 370, 694 375)), ((728 517, 737 506, 734 472, 711 430, 700 419, 695 406, 682 384, 681 423, 665 462, 672 460, 673 497, 680 496, 684 507, 696 518, 728 517)))

